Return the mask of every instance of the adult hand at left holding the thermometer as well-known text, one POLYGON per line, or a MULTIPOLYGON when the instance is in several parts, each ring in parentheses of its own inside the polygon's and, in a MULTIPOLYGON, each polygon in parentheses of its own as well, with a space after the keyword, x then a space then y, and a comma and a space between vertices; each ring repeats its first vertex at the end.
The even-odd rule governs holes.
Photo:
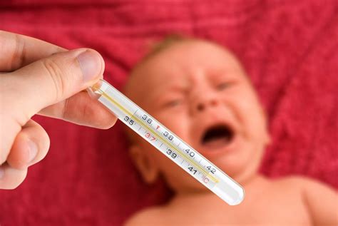
POLYGON ((110 128, 116 117, 85 90, 102 78, 104 61, 88 48, 68 51, 0 31, 0 189, 13 189, 49 148, 36 113, 110 128))

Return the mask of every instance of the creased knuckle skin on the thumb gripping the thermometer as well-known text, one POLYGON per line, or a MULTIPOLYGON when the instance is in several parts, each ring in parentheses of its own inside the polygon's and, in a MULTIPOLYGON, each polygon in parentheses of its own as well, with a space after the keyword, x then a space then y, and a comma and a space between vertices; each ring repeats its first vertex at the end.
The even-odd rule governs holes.
POLYGON ((44 59, 42 62, 43 68, 46 70, 46 76, 51 80, 54 88, 55 99, 59 100, 66 91, 66 82, 63 79, 63 71, 58 63, 51 59, 44 59))

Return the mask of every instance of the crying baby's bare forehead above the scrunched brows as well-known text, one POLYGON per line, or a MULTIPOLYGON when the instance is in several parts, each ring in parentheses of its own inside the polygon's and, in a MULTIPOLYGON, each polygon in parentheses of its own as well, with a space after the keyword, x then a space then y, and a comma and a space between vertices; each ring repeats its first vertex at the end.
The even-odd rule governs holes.
POLYGON ((226 48, 208 41, 183 41, 141 61, 131 73, 129 82, 152 91, 155 86, 188 81, 191 75, 198 73, 210 76, 245 74, 235 55, 226 48))

